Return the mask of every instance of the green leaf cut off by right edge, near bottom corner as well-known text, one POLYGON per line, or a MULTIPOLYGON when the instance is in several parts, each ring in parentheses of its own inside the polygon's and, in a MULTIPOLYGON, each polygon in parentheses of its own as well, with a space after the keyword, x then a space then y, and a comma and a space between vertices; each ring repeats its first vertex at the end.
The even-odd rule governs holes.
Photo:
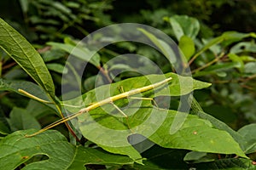
POLYGON ((256 151, 256 123, 241 127, 237 133, 241 134, 242 138, 246 141, 244 148, 246 154, 253 153, 256 151))

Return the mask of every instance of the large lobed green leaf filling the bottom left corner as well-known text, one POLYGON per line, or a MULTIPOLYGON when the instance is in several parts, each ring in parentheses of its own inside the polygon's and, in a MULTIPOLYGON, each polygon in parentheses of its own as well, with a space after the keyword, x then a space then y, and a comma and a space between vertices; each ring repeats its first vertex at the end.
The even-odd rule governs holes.
POLYGON ((32 138, 26 134, 34 130, 16 131, 0 141, 0 165, 5 170, 13 170, 33 156, 47 156, 47 160, 34 161, 22 169, 85 169, 88 164, 131 164, 126 156, 115 156, 106 151, 82 146, 73 146, 57 131, 47 131, 32 138))

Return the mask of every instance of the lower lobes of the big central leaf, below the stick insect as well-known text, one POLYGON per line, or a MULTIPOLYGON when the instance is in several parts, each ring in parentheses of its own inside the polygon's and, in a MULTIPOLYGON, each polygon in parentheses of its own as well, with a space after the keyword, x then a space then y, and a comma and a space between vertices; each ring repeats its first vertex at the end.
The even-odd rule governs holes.
MULTIPOLYGON (((123 111, 127 114, 132 112, 131 109, 123 111)), ((133 116, 129 116, 127 123, 125 121, 125 119, 103 114, 102 109, 98 108, 90 111, 90 116, 89 114, 79 116, 79 128, 86 139, 99 144, 103 149, 131 156, 135 160, 140 157, 127 141, 127 138, 134 133, 145 137, 153 133, 149 139, 166 148, 236 154, 246 157, 229 133, 212 127, 210 122, 198 116, 177 111, 166 113, 158 109, 141 108, 133 116), (170 134, 173 119, 177 116, 187 117, 177 133, 170 134)))

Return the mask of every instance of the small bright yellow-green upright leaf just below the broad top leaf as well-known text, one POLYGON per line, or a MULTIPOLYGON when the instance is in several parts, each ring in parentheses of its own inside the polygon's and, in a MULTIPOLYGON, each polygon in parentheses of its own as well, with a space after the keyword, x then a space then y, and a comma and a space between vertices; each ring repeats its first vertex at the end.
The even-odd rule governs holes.
POLYGON ((195 53, 195 43, 190 37, 182 36, 178 42, 178 47, 182 50, 187 60, 195 53))

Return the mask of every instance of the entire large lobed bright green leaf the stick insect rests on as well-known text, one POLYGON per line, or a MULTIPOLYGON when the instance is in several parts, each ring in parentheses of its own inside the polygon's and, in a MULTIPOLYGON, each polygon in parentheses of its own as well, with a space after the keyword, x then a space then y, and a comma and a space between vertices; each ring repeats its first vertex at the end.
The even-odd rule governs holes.
MULTIPOLYGON (((166 74, 172 77, 168 88, 157 88, 155 93, 146 92, 147 96, 183 95, 194 89, 206 88, 209 83, 195 81, 191 77, 181 77, 174 73, 166 74), (191 82, 195 82, 194 84, 191 82), (187 84, 185 89, 180 83, 187 84), (170 93, 168 93, 168 90, 170 93)), ((83 95, 84 103, 90 104, 119 94, 119 87, 125 91, 133 88, 142 88, 150 84, 147 79, 160 82, 160 75, 134 77, 122 82, 105 85, 83 95)), ((183 86, 184 87, 184 86, 183 86)), ((154 143, 167 148, 187 149, 213 153, 237 154, 244 156, 239 144, 229 133, 212 127, 212 124, 198 116, 187 115, 182 112, 155 109, 150 101, 136 100, 128 102, 119 99, 114 102, 128 116, 125 118, 113 105, 102 105, 89 113, 79 116, 79 129, 86 139, 100 145, 103 149, 113 153, 131 156, 134 160, 140 159, 137 151, 131 147, 127 138, 134 133, 148 137, 154 143), (128 105, 128 106, 126 106, 128 105), (174 118, 186 117, 177 133, 171 134, 170 128, 174 118)), ((81 100, 73 99, 69 105, 81 104, 81 100)), ((70 109, 72 112, 79 110, 70 109)), ((181 122, 182 123, 182 122, 181 122)), ((140 162, 140 161, 137 161, 140 162)))

